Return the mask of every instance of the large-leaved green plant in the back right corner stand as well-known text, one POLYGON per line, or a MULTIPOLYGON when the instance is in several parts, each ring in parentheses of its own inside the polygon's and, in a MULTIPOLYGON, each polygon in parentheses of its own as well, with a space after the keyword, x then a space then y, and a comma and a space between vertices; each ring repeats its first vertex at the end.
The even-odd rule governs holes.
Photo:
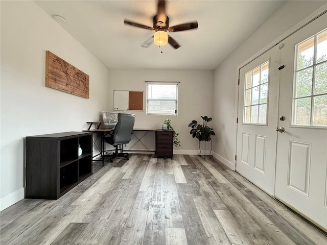
POLYGON ((199 141, 209 141, 211 140, 211 135, 216 135, 214 129, 207 126, 208 122, 213 118, 207 116, 201 116, 201 118, 203 119, 202 124, 198 124, 196 120, 193 120, 189 124, 189 127, 192 128, 190 134, 192 134, 193 138, 197 138, 199 141))

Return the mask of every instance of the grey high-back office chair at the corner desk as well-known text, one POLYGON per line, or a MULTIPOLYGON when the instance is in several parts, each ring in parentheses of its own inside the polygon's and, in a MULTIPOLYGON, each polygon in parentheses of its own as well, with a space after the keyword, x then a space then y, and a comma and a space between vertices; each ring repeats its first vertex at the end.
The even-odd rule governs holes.
POLYGON ((115 157, 126 157, 128 160, 128 153, 123 153, 123 144, 127 144, 131 140, 131 134, 134 127, 135 115, 129 113, 118 113, 118 122, 108 136, 104 139, 107 143, 115 147, 115 151, 112 155, 105 155, 105 157, 110 157, 110 162, 113 161, 115 157), (118 145, 122 145, 121 153, 118 153, 118 145))

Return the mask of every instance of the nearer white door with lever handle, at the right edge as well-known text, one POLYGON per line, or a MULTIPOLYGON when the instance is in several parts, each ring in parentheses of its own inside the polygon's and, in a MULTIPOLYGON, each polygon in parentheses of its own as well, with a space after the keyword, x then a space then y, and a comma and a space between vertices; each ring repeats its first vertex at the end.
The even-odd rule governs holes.
POLYGON ((276 198, 324 230, 327 230, 326 28, 327 14, 324 14, 287 38, 281 49, 285 67, 281 69, 279 116, 285 120, 278 120, 278 127, 285 132, 278 132, 277 136, 275 184, 276 198))

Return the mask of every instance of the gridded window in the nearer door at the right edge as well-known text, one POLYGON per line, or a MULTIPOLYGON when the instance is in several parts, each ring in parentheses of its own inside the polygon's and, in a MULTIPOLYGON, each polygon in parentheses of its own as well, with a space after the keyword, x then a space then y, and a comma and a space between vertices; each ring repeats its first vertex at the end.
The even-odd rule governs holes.
POLYGON ((295 46, 294 126, 327 126, 327 29, 295 46))

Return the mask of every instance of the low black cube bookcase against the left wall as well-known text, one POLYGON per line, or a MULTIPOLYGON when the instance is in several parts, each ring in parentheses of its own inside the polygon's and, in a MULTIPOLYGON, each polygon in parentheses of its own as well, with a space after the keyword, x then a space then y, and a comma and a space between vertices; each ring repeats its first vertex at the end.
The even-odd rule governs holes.
POLYGON ((91 174, 92 133, 26 137, 26 198, 58 199, 91 174))

